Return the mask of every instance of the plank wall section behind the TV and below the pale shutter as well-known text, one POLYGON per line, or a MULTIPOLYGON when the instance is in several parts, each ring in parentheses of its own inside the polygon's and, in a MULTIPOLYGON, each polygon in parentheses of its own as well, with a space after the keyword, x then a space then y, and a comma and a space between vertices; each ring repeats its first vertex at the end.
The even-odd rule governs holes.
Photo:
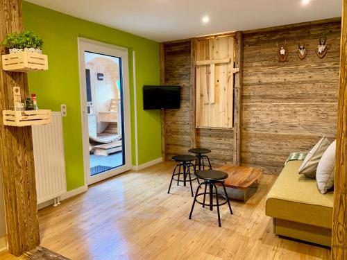
MULTIPOLYGON (((180 85, 179 110, 166 110, 164 120, 164 147, 166 159, 176 154, 187 154, 191 148, 194 119, 191 113, 191 40, 165 42, 162 44, 165 85, 180 85)), ((232 163, 232 130, 196 130, 196 146, 212 149, 210 159, 214 166, 232 163)))

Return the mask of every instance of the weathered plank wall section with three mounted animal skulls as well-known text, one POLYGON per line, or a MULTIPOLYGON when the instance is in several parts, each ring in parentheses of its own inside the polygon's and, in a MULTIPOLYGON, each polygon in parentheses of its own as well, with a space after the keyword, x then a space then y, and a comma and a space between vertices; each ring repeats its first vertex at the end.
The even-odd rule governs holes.
POLYGON ((280 173, 291 152, 307 151, 323 135, 335 139, 341 22, 244 35, 242 164, 280 173), (315 53, 328 37, 328 53, 315 53), (287 40, 288 62, 278 62, 276 41, 287 40), (305 42, 305 60, 297 57, 305 42))

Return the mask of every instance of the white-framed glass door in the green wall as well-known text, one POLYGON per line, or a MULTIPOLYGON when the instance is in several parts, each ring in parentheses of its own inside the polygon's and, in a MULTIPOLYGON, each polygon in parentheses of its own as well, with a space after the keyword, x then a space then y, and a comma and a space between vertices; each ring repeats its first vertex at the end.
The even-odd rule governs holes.
POLYGON ((131 166, 128 49, 78 37, 87 184, 131 166))

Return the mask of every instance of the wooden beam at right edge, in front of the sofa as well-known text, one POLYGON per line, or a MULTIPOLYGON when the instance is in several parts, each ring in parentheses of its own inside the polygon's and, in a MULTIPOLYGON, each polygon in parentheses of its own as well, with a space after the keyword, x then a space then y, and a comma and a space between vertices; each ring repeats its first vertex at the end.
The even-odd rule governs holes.
POLYGON ((332 259, 347 259, 347 0, 343 2, 341 27, 339 106, 335 157, 332 259))

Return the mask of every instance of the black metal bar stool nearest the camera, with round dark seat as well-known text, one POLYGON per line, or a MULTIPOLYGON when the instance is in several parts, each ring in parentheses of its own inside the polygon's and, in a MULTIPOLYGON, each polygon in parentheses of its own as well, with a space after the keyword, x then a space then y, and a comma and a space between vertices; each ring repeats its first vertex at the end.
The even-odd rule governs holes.
POLYGON ((230 209, 230 214, 232 214, 230 201, 228 198, 228 194, 226 193, 226 187, 224 186, 224 182, 223 182, 223 180, 225 180, 228 177, 228 174, 224 173, 223 171, 207 170, 207 171, 196 171, 195 175, 196 175, 196 177, 198 177, 198 179, 204 180, 204 182, 199 184, 198 188, 196 189, 196 193, 194 196, 194 202, 192 205, 192 209, 190 210, 190 214, 189 214, 189 219, 192 219, 194 205, 195 205, 195 202, 197 202, 198 204, 203 205, 203 207, 205 207, 205 206, 210 207, 211 211, 213 210, 213 207, 217 207, 218 225, 219 225, 219 227, 221 227, 221 216, 219 214, 219 206, 228 203, 228 206, 230 209), (223 186, 224 195, 218 193, 217 186, 216 186, 217 183, 219 183, 223 186), (198 193, 199 189, 203 185, 205 185, 205 191, 203 193, 198 193), (207 192, 207 187, 210 188, 208 192, 207 192), (210 195, 210 202, 209 203, 205 203, 206 194, 210 195), (197 200, 198 196, 203 196, 203 202, 200 202, 197 200), (216 196, 216 204, 213 204, 213 196, 216 196), (225 199, 226 201, 220 203, 219 197, 225 199))

